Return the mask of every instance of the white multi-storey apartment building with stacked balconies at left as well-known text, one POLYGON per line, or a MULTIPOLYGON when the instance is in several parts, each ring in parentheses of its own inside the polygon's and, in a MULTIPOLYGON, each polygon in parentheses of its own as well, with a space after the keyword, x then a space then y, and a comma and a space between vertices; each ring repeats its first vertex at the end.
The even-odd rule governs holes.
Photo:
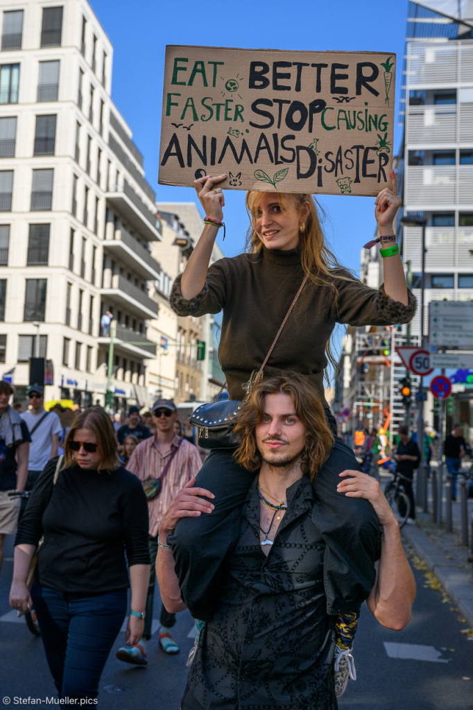
POLYGON ((161 225, 110 98, 112 44, 86 0, 1 0, 0 26, 0 375, 23 399, 38 354, 47 400, 103 404, 110 384, 116 408, 147 405, 161 225))

